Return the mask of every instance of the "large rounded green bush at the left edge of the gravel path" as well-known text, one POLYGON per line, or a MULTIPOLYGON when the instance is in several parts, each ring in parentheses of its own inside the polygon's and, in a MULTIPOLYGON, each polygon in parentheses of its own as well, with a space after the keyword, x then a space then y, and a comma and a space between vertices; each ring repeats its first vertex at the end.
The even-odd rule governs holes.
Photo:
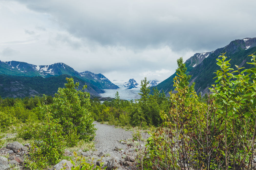
MULTIPOLYGON (((50 112, 53 119, 58 119, 63 128, 63 136, 76 132, 79 139, 93 140, 95 128, 93 118, 88 111, 90 94, 77 90, 79 83, 74 84, 73 78, 66 78, 66 88, 59 88, 55 94, 50 112), (75 131, 74 131, 75 129, 75 131)), ((86 86, 83 87, 83 90, 86 86)))

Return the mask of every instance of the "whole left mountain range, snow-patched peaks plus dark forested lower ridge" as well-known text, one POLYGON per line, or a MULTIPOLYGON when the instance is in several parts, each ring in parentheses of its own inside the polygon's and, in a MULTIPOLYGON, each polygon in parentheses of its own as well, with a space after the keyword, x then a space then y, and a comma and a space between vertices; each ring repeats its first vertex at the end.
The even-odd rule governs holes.
POLYGON ((54 95, 59 87, 64 86, 66 77, 73 77, 81 88, 86 84, 86 91, 92 96, 104 93, 102 89, 119 88, 102 74, 89 71, 79 73, 64 63, 36 66, 19 61, 0 61, 0 76, 0 95, 4 98, 54 95))

